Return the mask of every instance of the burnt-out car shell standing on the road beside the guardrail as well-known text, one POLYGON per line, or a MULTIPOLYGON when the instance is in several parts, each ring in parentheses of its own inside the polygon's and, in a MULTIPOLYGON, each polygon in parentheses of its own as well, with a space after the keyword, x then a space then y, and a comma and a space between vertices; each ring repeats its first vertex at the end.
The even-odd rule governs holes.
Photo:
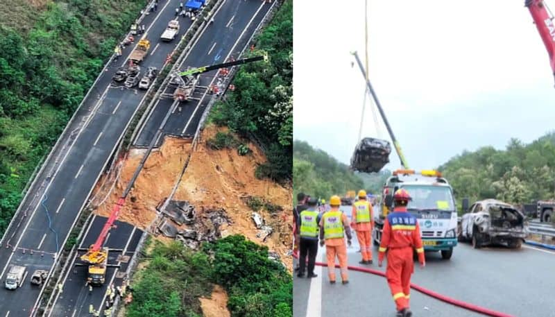
POLYGON ((458 237, 459 241, 472 241, 473 248, 490 244, 520 248, 527 237, 526 217, 513 205, 486 199, 477 201, 468 210, 461 217, 458 237))

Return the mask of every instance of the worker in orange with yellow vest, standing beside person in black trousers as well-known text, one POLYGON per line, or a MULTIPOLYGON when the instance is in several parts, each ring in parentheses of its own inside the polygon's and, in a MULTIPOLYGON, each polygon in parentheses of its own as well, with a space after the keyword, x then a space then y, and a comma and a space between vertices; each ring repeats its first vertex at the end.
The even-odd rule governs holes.
POLYGON ((347 274, 347 246, 345 246, 345 235, 347 244, 351 245, 351 230, 349 219, 341 210, 341 198, 332 196, 330 198, 331 209, 324 212, 320 220, 320 246, 325 243, 325 255, 327 258, 327 276, 330 277, 330 284, 335 284, 335 256, 339 259, 341 267, 341 282, 349 282, 347 274))

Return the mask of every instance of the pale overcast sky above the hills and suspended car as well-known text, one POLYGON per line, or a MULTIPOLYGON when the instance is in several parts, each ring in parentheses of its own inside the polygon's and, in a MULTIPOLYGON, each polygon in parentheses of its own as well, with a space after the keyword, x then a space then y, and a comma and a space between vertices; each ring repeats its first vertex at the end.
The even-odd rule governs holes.
MULTIPOLYGON (((554 78, 524 1, 368 2, 370 80, 411 168, 555 129, 554 78)), ((350 55, 364 63, 364 1, 295 0, 293 24, 294 138, 348 164, 364 100, 350 55)), ((375 105, 364 121, 363 137, 391 142, 375 105)), ((394 150, 390 160, 400 166, 394 150)))

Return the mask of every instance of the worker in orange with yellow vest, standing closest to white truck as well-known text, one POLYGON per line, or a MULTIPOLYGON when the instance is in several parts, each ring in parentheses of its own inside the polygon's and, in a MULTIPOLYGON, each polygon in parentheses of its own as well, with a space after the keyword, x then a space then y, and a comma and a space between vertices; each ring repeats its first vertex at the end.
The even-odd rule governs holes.
POLYGON ((352 205, 351 227, 357 232, 362 261, 360 264, 372 264, 372 228, 374 219, 372 217, 372 205, 366 200, 366 191, 360 190, 359 200, 352 205))

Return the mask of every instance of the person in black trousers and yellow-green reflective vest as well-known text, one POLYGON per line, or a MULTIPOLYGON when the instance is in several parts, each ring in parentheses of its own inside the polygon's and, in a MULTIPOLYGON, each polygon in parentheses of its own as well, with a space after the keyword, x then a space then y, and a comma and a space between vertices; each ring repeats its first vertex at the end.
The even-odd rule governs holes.
POLYGON ((297 276, 305 276, 305 267, 308 269, 307 277, 316 277, 314 274, 314 262, 316 262, 316 254, 318 253, 318 236, 321 214, 317 209, 318 200, 316 198, 309 198, 307 200, 307 209, 300 212, 297 223, 299 224, 299 234, 296 237, 300 241, 300 257, 299 257, 299 271, 297 276))

